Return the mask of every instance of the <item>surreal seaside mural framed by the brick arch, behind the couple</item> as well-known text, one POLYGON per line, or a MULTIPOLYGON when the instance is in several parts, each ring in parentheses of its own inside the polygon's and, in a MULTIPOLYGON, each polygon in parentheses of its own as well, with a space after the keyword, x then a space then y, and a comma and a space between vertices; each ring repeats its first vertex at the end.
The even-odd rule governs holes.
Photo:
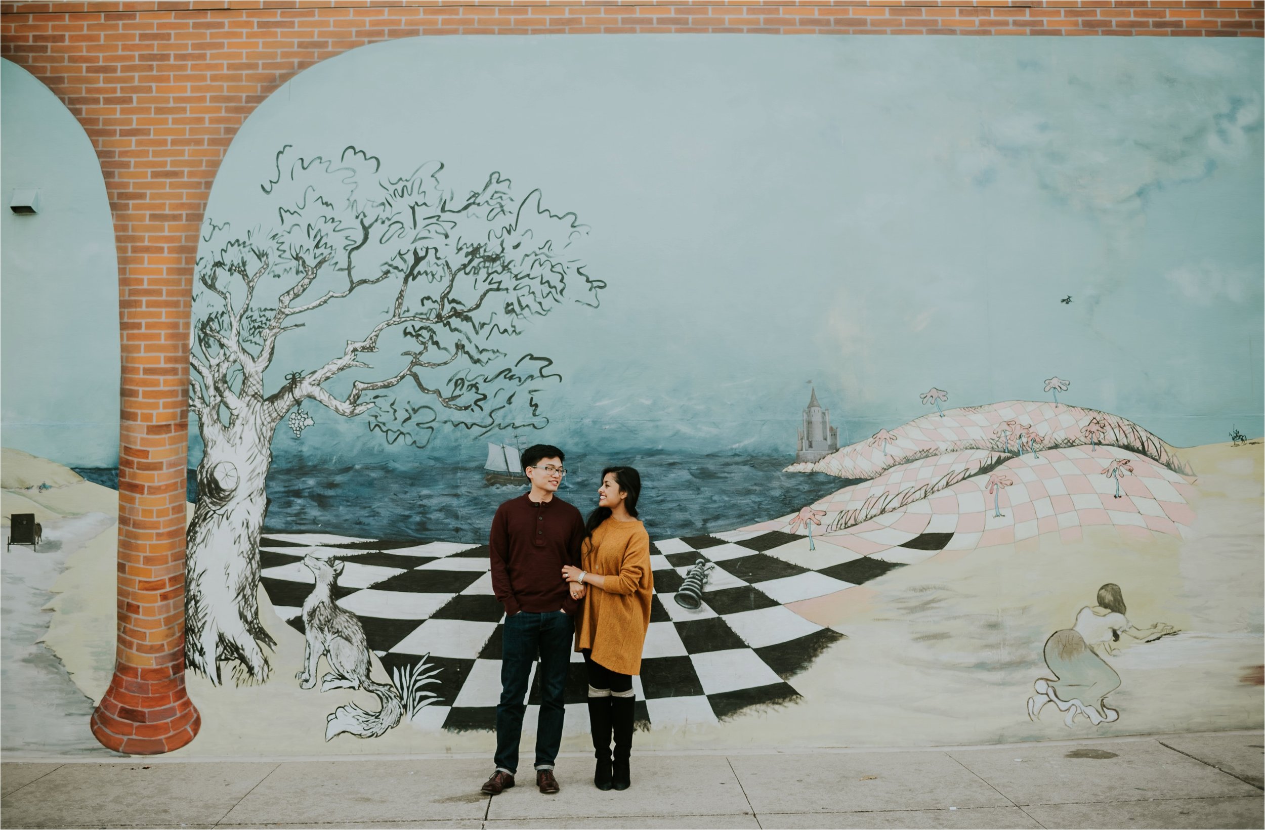
MULTIPOLYGON (((1259 44, 541 44, 355 49, 229 148, 181 753, 488 750, 538 442, 584 512, 641 472, 648 746, 1260 726, 1259 44)), ((113 574, 49 625, 90 696, 113 574)))

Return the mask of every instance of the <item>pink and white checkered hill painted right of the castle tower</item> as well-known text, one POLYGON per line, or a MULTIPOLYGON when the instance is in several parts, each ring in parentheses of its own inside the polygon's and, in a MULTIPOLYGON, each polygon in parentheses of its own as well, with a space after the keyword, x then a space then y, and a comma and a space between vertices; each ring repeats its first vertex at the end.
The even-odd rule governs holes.
MULTIPOLYGON (((903 564, 1090 525, 1182 535, 1194 519, 1171 447, 1118 415, 1050 402, 926 415, 788 469, 868 478, 811 505, 825 511, 815 539, 903 564)), ((797 515, 745 530, 805 535, 797 515)))

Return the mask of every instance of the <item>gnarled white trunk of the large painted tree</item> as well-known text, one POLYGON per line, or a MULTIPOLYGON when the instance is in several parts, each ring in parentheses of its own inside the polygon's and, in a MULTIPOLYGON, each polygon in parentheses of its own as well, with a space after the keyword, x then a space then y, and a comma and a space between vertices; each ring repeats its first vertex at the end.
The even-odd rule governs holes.
POLYGON ((276 641, 259 624, 257 595, 273 426, 262 406, 244 404, 231 428, 201 429, 206 449, 187 533, 185 655, 188 668, 215 684, 220 660, 237 663, 238 683, 268 679, 261 644, 276 641))

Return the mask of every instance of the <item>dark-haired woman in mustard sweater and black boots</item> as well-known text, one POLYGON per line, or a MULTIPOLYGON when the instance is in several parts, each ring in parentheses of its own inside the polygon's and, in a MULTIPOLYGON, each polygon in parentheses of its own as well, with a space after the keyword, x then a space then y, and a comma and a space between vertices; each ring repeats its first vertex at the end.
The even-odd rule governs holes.
POLYGON ((588 720, 593 730, 598 790, 631 783, 632 676, 641 672, 641 647, 650 628, 650 536, 636 517, 641 477, 631 467, 607 467, 597 490, 597 510, 584 523, 581 566, 564 566, 572 586, 586 586, 576 625, 576 650, 588 671, 588 720), (615 757, 611 758, 611 735, 615 757))

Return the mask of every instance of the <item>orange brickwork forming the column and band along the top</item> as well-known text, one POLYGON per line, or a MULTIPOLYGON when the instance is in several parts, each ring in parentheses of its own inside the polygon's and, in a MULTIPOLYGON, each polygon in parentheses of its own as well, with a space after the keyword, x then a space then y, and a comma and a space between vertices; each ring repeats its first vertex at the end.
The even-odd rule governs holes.
POLYGON ((114 214, 123 334, 119 647, 94 734, 113 749, 157 753, 197 731, 183 681, 186 388, 197 232, 234 133, 296 72, 358 46, 416 35, 1261 37, 1262 10, 1262 0, 0 4, 0 56, 43 81, 87 130, 114 214))

